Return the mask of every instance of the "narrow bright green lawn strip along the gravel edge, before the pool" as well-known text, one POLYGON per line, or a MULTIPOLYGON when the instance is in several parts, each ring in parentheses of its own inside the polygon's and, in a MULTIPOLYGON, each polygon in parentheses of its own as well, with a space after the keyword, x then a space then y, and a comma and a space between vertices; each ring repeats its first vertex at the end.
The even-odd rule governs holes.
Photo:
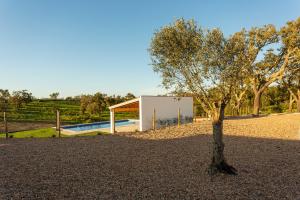
MULTIPOLYGON (((67 135, 61 135, 62 137, 77 137, 77 136, 96 136, 99 134, 108 134, 100 131, 91 132, 91 133, 84 133, 74 136, 67 136, 67 135)), ((13 135, 13 138, 50 138, 55 135, 55 137, 58 137, 58 133, 53 128, 43 128, 43 129, 37 129, 37 130, 30 130, 30 131, 20 131, 16 133, 9 133, 9 136, 13 135)), ((5 134, 0 134, 0 138, 5 138, 5 134)))

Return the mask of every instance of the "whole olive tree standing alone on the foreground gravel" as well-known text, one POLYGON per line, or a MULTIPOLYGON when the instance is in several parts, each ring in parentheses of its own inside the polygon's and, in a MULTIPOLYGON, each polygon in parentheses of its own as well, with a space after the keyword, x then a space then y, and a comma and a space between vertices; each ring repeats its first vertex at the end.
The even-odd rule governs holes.
POLYGON ((243 80, 243 35, 225 38, 219 29, 204 30, 195 21, 176 20, 154 33, 149 49, 155 72, 167 89, 190 93, 212 118, 210 173, 235 174, 223 150, 224 110, 243 80))

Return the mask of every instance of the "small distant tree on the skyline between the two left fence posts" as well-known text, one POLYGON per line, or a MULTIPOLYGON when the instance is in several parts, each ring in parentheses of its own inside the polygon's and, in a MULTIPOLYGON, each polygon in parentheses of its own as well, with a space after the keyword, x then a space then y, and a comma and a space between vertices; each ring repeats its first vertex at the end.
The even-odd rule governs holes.
POLYGON ((10 101, 15 110, 19 110, 22 104, 30 103, 32 100, 32 93, 28 92, 27 90, 14 91, 10 96, 10 101))

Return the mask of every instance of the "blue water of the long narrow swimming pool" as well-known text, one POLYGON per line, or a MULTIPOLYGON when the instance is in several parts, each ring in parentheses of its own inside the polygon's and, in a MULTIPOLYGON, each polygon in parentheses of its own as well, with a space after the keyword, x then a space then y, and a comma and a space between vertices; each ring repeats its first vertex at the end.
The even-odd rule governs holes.
MULTIPOLYGON (((135 121, 132 120, 119 120, 115 122, 115 126, 126 126, 130 124, 135 124, 135 121)), ((110 128, 110 122, 96 122, 91 124, 78 124, 78 125, 71 125, 71 126, 63 126, 65 130, 70 131, 89 131, 99 128, 110 128)))

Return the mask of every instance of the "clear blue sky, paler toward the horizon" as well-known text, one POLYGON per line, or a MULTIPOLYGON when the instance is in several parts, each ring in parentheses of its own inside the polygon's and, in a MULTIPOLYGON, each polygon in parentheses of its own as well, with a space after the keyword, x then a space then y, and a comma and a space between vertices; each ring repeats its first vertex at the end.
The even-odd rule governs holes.
POLYGON ((225 35, 283 26, 299 0, 0 0, 0 88, 35 97, 164 94, 152 70, 153 33, 177 18, 225 35))

